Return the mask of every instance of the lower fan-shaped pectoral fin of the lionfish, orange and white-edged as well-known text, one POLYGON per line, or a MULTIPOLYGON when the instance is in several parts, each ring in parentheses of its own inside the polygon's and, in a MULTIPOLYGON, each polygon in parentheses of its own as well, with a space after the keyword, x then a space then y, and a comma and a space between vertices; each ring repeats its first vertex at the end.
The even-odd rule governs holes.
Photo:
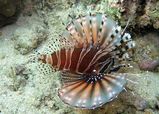
POLYGON ((123 89, 123 75, 105 75, 96 81, 78 80, 67 83, 59 90, 59 97, 77 108, 94 109, 114 99, 123 89))

